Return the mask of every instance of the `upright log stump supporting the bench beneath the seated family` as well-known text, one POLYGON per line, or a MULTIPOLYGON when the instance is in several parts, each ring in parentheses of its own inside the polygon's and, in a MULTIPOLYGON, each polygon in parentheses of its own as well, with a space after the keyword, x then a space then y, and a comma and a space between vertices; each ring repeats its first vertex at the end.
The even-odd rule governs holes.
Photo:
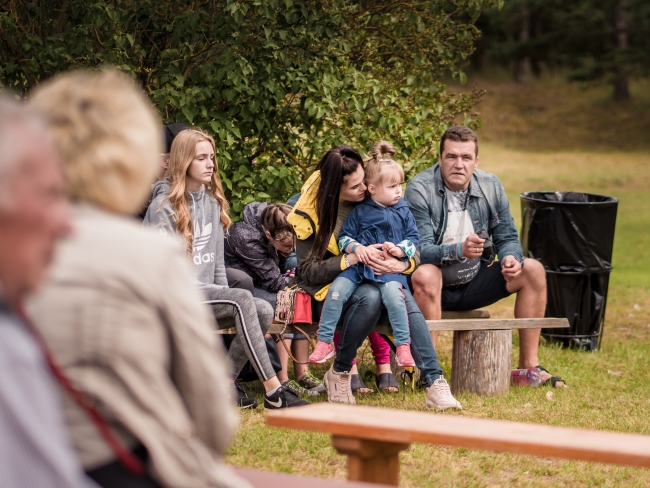
POLYGON ((451 358, 454 393, 498 396, 510 388, 512 330, 456 330, 451 358))

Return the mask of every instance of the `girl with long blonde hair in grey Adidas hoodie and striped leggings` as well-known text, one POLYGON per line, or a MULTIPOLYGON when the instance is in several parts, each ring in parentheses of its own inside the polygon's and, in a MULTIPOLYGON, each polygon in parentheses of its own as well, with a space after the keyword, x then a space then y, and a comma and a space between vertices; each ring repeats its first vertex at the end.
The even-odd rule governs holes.
POLYGON ((233 378, 250 361, 264 385, 266 408, 306 405, 280 384, 271 365, 264 334, 273 320, 273 308, 248 290, 228 288, 223 239, 231 220, 215 154, 214 140, 208 134, 196 129, 178 134, 167 178, 154 186, 143 223, 182 237, 198 285, 208 300, 218 302, 214 305, 217 318, 235 318, 237 336, 228 351, 233 378))

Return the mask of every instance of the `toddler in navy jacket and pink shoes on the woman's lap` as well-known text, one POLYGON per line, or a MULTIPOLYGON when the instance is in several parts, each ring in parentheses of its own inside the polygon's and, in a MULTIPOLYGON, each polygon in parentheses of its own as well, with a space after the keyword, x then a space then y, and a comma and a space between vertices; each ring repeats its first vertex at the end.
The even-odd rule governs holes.
MULTIPOLYGON (((392 144, 380 141, 375 144, 372 157, 366 162, 366 185, 370 196, 352 210, 343 224, 338 242, 341 252, 356 254, 359 263, 348 265, 327 293, 318 328, 318 344, 309 356, 310 363, 320 364, 334 357, 332 339, 343 305, 361 283, 371 282, 379 288, 388 310, 397 346, 397 364, 415 365, 410 351, 408 313, 402 292, 403 287, 408 286, 406 277, 399 273, 377 276, 365 265, 371 252, 384 251, 404 259, 404 269, 407 269, 420 242, 413 214, 401 198, 404 170, 392 159, 394 154, 392 144)), ((347 264, 347 257, 345 262, 347 264)))

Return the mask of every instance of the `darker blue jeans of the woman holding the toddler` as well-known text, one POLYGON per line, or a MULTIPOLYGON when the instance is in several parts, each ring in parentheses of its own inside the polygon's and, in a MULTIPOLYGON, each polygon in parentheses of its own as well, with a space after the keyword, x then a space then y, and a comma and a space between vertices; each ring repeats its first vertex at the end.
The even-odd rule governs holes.
MULTIPOLYGON (((411 354, 415 359, 415 365, 420 369, 423 385, 428 387, 442 376, 442 369, 431 342, 427 322, 408 290, 404 290, 404 301, 409 314, 411 354)), ((317 302, 315 312, 318 313, 318 306, 321 304, 322 302, 317 302)), ((361 284, 350 295, 343 305, 343 314, 339 321, 342 328, 341 343, 334 360, 335 371, 352 369, 352 361, 357 355, 357 349, 377 325, 382 308, 381 293, 372 283, 361 284)))

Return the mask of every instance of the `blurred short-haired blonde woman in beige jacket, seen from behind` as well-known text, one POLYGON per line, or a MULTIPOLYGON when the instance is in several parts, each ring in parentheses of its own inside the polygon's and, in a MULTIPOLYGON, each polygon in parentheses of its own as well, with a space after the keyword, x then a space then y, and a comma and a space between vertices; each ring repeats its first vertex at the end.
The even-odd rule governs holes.
POLYGON ((154 111, 110 71, 56 77, 31 105, 64 162, 74 234, 30 311, 80 393, 63 398, 86 472, 103 487, 248 486, 222 463, 237 416, 184 249, 130 217, 159 167, 154 111))

